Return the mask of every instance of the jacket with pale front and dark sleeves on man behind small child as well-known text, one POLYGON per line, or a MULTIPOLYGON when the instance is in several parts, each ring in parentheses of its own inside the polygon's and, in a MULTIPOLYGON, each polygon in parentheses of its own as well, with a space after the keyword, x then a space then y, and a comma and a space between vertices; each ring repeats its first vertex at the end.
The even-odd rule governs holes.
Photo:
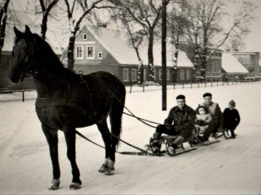
POLYGON ((209 105, 205 103, 200 103, 196 109, 197 112, 200 106, 206 107, 206 109, 208 110, 208 112, 212 117, 212 120, 216 120, 218 122, 219 127, 223 126, 223 114, 220 110, 220 107, 218 106, 218 103, 211 102, 209 105))

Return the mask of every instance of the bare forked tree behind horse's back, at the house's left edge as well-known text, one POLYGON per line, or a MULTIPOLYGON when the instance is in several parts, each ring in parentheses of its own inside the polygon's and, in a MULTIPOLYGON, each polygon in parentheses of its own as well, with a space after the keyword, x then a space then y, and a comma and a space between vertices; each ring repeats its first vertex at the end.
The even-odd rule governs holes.
POLYGON ((102 9, 102 8, 114 8, 113 6, 109 6, 108 4, 102 4, 105 3, 106 0, 96 0, 93 2, 88 3, 86 0, 74 0, 72 3, 72 6, 70 6, 68 0, 64 0, 67 8, 67 17, 69 20, 70 25, 70 38, 69 38, 69 44, 68 44, 68 69, 73 70, 74 69, 74 43, 75 43, 75 36, 76 33, 80 29, 80 25, 82 21, 87 18, 88 20, 91 20, 91 14, 94 12, 95 9, 102 9), (75 4, 78 3, 78 5, 82 9, 82 14, 79 17, 79 19, 76 21, 73 18, 73 12, 75 9, 75 4))

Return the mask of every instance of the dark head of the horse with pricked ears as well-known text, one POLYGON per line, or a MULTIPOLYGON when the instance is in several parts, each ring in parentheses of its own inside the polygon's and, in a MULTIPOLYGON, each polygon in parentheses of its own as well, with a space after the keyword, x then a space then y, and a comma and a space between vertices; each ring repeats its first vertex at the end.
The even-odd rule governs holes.
POLYGON ((16 38, 12 51, 13 63, 9 67, 9 77, 13 83, 23 81, 30 69, 30 56, 32 55, 33 34, 25 25, 25 32, 20 32, 14 26, 16 38))

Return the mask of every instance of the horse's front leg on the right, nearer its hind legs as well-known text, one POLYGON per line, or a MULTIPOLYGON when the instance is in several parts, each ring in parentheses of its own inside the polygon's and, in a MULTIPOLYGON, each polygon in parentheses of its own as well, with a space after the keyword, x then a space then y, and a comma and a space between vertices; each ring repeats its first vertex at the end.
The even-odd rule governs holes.
POLYGON ((72 166, 73 180, 70 189, 81 188, 80 171, 76 164, 75 155, 75 129, 64 129, 64 136, 67 144, 67 157, 72 166))

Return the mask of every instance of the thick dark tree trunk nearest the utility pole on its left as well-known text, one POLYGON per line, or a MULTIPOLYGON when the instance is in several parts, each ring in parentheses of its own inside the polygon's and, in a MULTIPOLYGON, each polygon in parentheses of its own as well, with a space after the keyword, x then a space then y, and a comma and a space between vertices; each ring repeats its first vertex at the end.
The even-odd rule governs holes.
POLYGON ((149 31, 148 62, 149 62, 149 81, 154 81, 154 66, 153 66, 153 29, 151 29, 151 30, 149 31))

